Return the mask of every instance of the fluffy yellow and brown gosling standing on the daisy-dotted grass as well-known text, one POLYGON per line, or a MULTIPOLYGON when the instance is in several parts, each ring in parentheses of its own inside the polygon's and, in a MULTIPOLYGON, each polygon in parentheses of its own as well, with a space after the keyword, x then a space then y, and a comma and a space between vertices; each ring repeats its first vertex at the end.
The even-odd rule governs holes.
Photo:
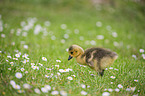
POLYGON ((80 46, 72 45, 68 52, 68 60, 74 57, 79 64, 89 66, 99 72, 101 76, 103 76, 105 68, 111 66, 118 58, 115 52, 104 48, 89 48, 84 51, 80 46))

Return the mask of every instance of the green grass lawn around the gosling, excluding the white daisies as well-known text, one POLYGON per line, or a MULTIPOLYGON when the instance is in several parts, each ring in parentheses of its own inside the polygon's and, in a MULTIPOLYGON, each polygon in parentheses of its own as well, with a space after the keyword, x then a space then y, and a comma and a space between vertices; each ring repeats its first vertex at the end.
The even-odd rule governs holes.
POLYGON ((0 1, 2 16, 0 20, 3 22, 3 31, 0 34, 5 34, 5 38, 0 38, 0 95, 49 96, 53 90, 64 90, 68 96, 80 96, 81 91, 84 90, 88 96, 101 96, 103 92, 108 92, 104 89, 109 88, 113 89, 113 92, 109 92, 110 96, 145 95, 145 60, 141 56, 142 53, 139 52, 140 49, 145 49, 145 14, 143 13, 145 7, 143 5, 117 1, 113 7, 100 6, 101 10, 98 10, 100 8, 92 5, 91 2, 81 0, 78 3, 67 2, 67 0, 64 2, 50 0, 49 3, 45 0, 43 0, 44 2, 38 2, 39 0, 37 2, 16 1, 0 1), (30 17, 37 18, 34 26, 29 31, 22 30, 21 22, 25 21, 28 24, 27 19, 30 17), (51 25, 45 26, 45 21, 50 21, 51 25), (102 23, 101 27, 96 26, 98 21, 102 23), (38 24, 46 28, 47 36, 43 36, 43 32, 38 35, 34 34, 35 26, 38 24), (67 28, 61 29, 62 24, 66 24, 67 28), (107 30, 107 26, 111 26, 111 29, 107 30), (11 33, 12 29, 14 33, 11 33), (16 35, 17 29, 21 29, 19 36, 16 35), (79 34, 74 33, 75 29, 79 30, 79 34), (27 32, 26 37, 22 36, 23 32, 27 32), (118 36, 113 37, 112 32, 116 32, 118 36), (68 34, 69 38, 65 39, 64 34, 68 34), (98 40, 97 35, 103 35, 104 39, 98 40), (56 39, 52 40, 52 36, 55 36, 56 39), (80 40, 80 36, 83 36, 84 40, 80 40), (61 43, 62 39, 65 40, 65 43, 61 43), (87 43, 92 40, 96 42, 96 45, 87 43), (25 43, 22 44, 22 41, 25 43), (12 42, 15 42, 15 45, 12 45, 12 42), (114 42, 117 42, 118 46, 114 46, 114 42), (101 78, 89 67, 80 67, 75 59, 68 62, 66 49, 72 44, 78 44, 84 49, 96 46, 117 52, 119 58, 111 67, 118 71, 108 68, 101 78), (24 45, 28 45, 28 49, 25 49, 24 45), (22 55, 27 53, 30 58, 29 62, 22 63, 21 61, 24 60, 22 55, 17 61, 13 60, 12 58, 17 53, 15 50, 21 52, 22 55), (137 56, 136 60, 132 57, 133 54, 137 56), (7 58, 9 55, 12 56, 11 59, 7 58), (43 61, 42 57, 46 57, 47 61, 43 61), (61 60, 61 62, 58 63, 56 60, 61 60), (14 65, 11 66, 10 62, 14 62, 14 65), (39 70, 32 69, 31 63, 35 63, 39 70), (59 68, 55 65, 59 65, 59 68), (22 72, 21 68, 25 70, 22 72), (46 70, 46 68, 53 68, 53 70, 46 70), (60 76, 55 77, 59 69, 67 68, 73 71, 61 73, 60 76), (25 71, 28 71, 28 74, 25 71), (21 79, 15 77, 17 72, 23 74, 21 79), (51 74, 54 74, 51 78, 45 77, 45 75, 50 76, 51 74), (91 74, 96 76, 92 77, 91 74), (73 80, 67 80, 68 76, 73 77, 73 80), (116 78, 111 79, 110 76, 116 78), (18 93, 18 90, 10 85, 10 80, 19 84, 25 93, 18 93), (138 82, 134 80, 138 80, 138 82), (32 88, 24 89, 24 83, 30 84, 32 88), (81 84, 89 85, 90 88, 82 88, 81 84), (118 88, 118 84, 121 84, 123 88, 119 92, 115 92, 114 89, 118 88), (41 89, 45 85, 50 85, 52 90, 46 94, 34 92, 35 88, 41 89), (136 87, 135 91, 126 91, 126 88, 130 87, 136 87))

